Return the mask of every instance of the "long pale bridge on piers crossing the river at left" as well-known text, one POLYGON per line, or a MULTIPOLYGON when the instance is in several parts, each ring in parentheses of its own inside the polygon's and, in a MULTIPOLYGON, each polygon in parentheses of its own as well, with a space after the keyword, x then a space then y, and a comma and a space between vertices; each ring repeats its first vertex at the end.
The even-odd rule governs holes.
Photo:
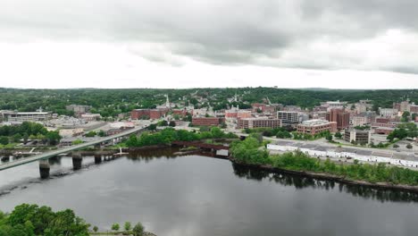
MULTIPOLYGON (((127 131, 122 131, 121 133, 118 134, 114 134, 112 136, 107 136, 101 139, 97 139, 94 141, 90 141, 90 142, 85 142, 79 145, 74 145, 71 147, 63 147, 63 148, 59 148, 57 150, 51 151, 51 152, 46 152, 43 154, 39 154, 39 155, 35 155, 35 156, 29 156, 27 158, 23 158, 21 160, 17 160, 17 161, 13 161, 10 163, 6 163, 6 164, 0 164, 0 171, 6 170, 6 169, 10 169, 22 164, 29 164, 32 162, 36 162, 39 161, 39 172, 41 175, 41 178, 47 178, 49 177, 49 163, 47 162, 47 159, 54 157, 54 156, 58 156, 60 154, 64 154, 64 153, 68 153, 74 150, 78 150, 84 147, 90 147, 90 146, 96 146, 96 145, 100 145, 101 143, 104 143, 106 141, 109 140, 117 140, 117 139, 121 139, 122 137, 126 137, 129 136, 133 133, 137 133, 140 131, 144 131, 146 130, 147 126, 145 127, 136 127, 127 131)), ((77 161, 76 161, 77 163, 77 161)), ((73 159, 73 164, 74 163, 74 159, 73 159)), ((80 164, 80 162, 79 162, 80 164)))

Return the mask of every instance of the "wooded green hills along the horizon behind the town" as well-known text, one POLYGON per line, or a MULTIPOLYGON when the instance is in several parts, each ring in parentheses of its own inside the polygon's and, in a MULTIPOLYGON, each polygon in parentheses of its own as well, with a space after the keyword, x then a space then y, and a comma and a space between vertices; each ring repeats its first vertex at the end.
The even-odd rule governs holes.
POLYGON ((211 105, 214 110, 230 105, 249 108, 251 103, 263 102, 266 97, 272 103, 313 107, 322 101, 342 100, 356 102, 371 99, 373 110, 378 107, 392 107, 409 97, 418 104, 418 91, 409 90, 341 90, 341 89, 274 89, 274 88, 239 88, 239 89, 0 89, 0 110, 19 110, 32 112, 43 107, 44 110, 57 114, 71 114, 65 105, 92 105, 92 113, 103 117, 128 113, 136 108, 154 108, 165 102, 167 94, 171 101, 180 101, 183 105, 196 107, 211 105), (238 95, 238 101, 228 102, 228 98, 238 95), (208 101, 199 104, 197 98, 208 101))

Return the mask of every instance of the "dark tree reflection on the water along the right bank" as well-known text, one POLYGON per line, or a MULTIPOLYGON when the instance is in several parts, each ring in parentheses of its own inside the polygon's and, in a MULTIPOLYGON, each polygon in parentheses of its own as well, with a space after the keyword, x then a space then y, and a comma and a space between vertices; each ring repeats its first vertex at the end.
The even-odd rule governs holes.
POLYGON ((368 186, 345 184, 336 181, 317 180, 311 177, 299 176, 288 173, 270 173, 258 168, 249 167, 242 164, 232 164, 234 173, 239 178, 246 178, 247 180, 255 181, 274 181, 284 186, 294 186, 296 189, 320 189, 333 190, 338 186, 340 192, 352 194, 360 198, 378 199, 381 202, 385 201, 403 201, 403 202, 418 202, 418 194, 410 191, 401 190, 382 190, 371 188, 368 186))

